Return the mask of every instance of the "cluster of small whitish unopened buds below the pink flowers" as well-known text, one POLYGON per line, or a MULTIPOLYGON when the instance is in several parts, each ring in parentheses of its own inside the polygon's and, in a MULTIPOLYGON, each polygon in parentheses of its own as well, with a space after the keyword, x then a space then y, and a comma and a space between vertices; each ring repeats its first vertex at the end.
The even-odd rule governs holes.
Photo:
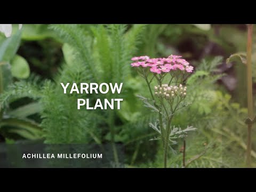
POLYGON ((179 86, 168 86, 167 84, 163 84, 162 86, 158 85, 155 86, 155 95, 157 97, 166 98, 166 99, 174 99, 175 97, 181 97, 185 98, 187 94, 187 87, 182 86, 181 84, 179 86))

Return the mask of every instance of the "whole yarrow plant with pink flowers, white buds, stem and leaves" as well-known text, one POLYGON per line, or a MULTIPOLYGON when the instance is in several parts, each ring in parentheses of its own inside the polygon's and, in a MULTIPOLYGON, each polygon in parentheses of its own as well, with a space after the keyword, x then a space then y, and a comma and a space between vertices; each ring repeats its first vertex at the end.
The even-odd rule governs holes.
POLYGON ((131 60, 134 61, 131 66, 136 68, 139 75, 145 79, 151 95, 151 99, 138 97, 144 102, 144 106, 159 115, 157 122, 149 123, 149 125, 160 134, 160 137, 155 139, 162 140, 164 167, 167 167, 169 147, 177 145, 176 140, 186 137, 188 131, 195 130, 192 126, 181 129, 181 127, 175 127, 171 124, 174 114, 181 108, 188 106, 184 102, 187 96, 187 87, 182 84, 193 72, 194 67, 178 55, 153 59, 148 56, 141 56, 133 57, 131 60), (153 90, 151 83, 156 82, 157 85, 154 86, 153 90))

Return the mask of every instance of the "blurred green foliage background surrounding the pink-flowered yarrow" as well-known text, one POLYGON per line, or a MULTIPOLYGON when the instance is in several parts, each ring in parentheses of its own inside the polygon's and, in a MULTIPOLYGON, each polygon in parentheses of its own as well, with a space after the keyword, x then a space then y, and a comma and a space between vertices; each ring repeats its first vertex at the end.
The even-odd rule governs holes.
MULTIPOLYGON (((246 69, 226 59, 245 51, 245 25, 25 24, 21 31, 17 25, 10 38, 0 34, 0 139, 99 145, 112 141, 125 146, 127 167, 161 167, 161 143, 150 141, 155 132, 148 126, 155 117, 136 97, 147 88, 130 69, 130 58, 178 54, 195 67, 187 79, 193 104, 173 119, 175 126, 189 122, 197 128, 186 140, 188 167, 243 167, 246 69), (121 110, 77 110, 70 105, 77 98, 115 95, 63 94, 60 82, 123 82, 121 110)), ((169 159, 172 167, 182 166, 179 143, 169 159)))

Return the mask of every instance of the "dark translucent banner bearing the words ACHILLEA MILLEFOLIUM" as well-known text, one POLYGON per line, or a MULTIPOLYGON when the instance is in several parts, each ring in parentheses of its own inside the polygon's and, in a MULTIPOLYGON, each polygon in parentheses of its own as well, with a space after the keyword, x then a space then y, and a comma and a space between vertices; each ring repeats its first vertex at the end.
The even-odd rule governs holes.
POLYGON ((0 167, 124 167, 123 146, 81 144, 0 145, 0 167))

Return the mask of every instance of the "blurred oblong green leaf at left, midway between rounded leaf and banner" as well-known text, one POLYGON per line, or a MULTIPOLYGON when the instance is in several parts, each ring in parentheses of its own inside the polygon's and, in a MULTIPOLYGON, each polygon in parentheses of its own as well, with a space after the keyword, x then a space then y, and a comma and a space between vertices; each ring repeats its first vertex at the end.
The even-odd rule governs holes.
POLYGON ((21 106, 15 110, 10 111, 9 115, 15 117, 25 118, 29 115, 39 113, 41 111, 41 106, 38 102, 29 103, 28 105, 21 106))

